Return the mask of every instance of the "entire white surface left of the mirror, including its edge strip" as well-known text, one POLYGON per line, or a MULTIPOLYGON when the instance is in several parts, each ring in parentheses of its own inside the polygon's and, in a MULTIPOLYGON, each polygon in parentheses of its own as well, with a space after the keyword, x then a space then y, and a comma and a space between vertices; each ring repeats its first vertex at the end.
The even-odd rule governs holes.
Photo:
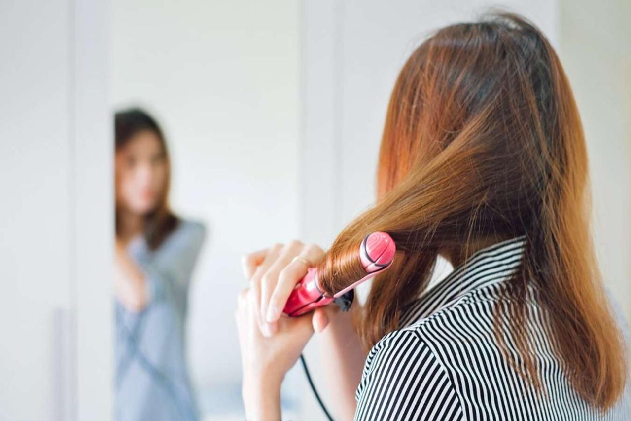
POLYGON ((107 1, 0 6, 2 420, 112 415, 104 34, 107 1))

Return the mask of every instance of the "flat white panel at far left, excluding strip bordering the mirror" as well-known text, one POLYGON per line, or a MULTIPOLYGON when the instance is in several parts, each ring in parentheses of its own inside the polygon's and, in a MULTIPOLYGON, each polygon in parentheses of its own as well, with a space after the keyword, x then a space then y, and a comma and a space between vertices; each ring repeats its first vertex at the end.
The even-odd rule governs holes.
POLYGON ((40 8, 3 3, 0 326, 3 343, 10 346, 0 347, 0 377, 5 379, 0 418, 6 420, 43 420, 60 409, 52 388, 60 386, 54 371, 54 317, 69 308, 71 287, 68 31, 67 2, 40 8), (20 44, 16 34, 24 36, 20 44))

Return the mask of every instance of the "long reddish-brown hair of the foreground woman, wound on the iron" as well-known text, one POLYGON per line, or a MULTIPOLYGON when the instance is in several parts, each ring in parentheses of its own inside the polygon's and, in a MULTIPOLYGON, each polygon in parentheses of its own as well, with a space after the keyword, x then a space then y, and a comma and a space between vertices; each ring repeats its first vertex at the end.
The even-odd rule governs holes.
POLYGON ((358 331, 367 348, 398 329, 439 253, 524 235, 521 266, 495 307, 504 355, 541 389, 527 301, 543 309, 565 375, 591 405, 622 393, 625 350, 604 296, 589 228, 581 119, 557 54, 521 16, 442 28, 403 66, 387 109, 377 204, 339 234, 319 267, 328 293, 362 277, 357 247, 389 233, 395 263, 372 283, 358 331), (536 291, 529 294, 529 291, 536 291), (501 322, 509 321, 508 328, 501 322), (516 341, 517 362, 505 339, 516 341))

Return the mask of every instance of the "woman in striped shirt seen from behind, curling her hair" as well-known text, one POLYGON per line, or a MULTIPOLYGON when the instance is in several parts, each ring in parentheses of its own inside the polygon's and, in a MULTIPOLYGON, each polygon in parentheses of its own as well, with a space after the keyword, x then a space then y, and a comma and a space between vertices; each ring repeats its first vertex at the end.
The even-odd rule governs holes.
POLYGON ((280 419, 283 375, 327 326, 337 418, 627 419, 625 345, 587 199, 579 113, 541 32, 510 14, 437 31, 394 86, 374 207, 326 253, 293 242, 245 259, 248 418, 280 419), (329 295, 360 279, 373 231, 398 252, 353 306, 356 326, 333 308, 280 317, 310 265, 329 295), (427 290, 439 255, 456 269, 427 290))

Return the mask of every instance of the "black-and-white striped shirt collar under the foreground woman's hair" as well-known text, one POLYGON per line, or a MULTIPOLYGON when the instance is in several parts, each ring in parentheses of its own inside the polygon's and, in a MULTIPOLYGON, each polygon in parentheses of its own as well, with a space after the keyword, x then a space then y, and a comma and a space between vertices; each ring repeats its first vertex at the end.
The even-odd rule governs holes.
POLYGON ((521 264, 526 236, 483 248, 456 267, 445 279, 410 303, 401 317, 400 326, 433 314, 469 291, 509 279, 521 264))

